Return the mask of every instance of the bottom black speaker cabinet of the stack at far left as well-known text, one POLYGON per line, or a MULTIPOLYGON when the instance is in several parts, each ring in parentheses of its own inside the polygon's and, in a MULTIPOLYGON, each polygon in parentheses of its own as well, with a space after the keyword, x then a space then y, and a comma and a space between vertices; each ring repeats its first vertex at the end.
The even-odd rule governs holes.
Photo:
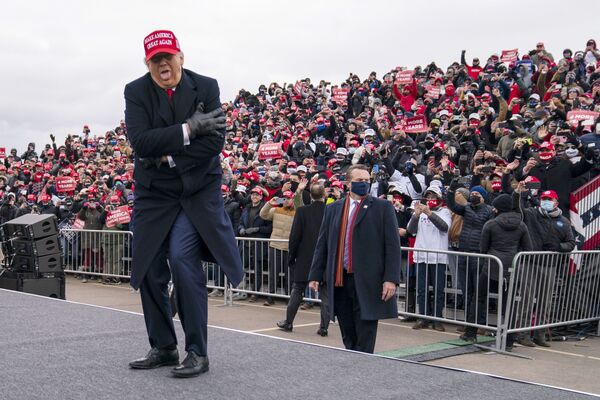
POLYGON ((35 274, 5 271, 0 275, 0 288, 65 300, 63 274, 56 274, 51 278, 38 278, 35 274))

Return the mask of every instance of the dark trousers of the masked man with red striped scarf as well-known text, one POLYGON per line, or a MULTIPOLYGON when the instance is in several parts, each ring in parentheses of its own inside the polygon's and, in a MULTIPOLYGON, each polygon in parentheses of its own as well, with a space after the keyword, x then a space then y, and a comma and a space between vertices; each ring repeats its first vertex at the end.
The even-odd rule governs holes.
POLYGON ((344 273, 344 286, 334 289, 333 303, 344 346, 348 350, 373 353, 379 321, 360 318, 360 305, 352 274, 344 273))

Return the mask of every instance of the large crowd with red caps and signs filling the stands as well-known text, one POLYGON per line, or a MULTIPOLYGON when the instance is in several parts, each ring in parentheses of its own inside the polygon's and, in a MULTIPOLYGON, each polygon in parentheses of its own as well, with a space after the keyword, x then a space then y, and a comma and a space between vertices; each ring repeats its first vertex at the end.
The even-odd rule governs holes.
MULTIPOLYGON (((469 62, 463 51, 445 69, 432 62, 366 79, 350 73, 339 84, 305 78, 240 90, 222 105, 221 191, 236 235, 289 239, 296 210, 321 193, 311 188, 323 188, 325 204, 339 200, 346 170, 362 164, 371 171, 370 194, 392 202, 403 246, 416 241, 507 262, 518 250, 572 250, 569 194, 600 171, 600 50, 590 39, 555 57, 540 42, 502 57, 469 62)), ((64 144, 50 138, 39 152, 30 143, 22 154, 13 148, 5 155, 0 222, 42 213, 61 226, 79 220, 84 229, 128 230, 107 224, 111 211, 134 205, 135 154, 125 123, 104 135, 85 125, 64 144)), ((268 266, 272 285, 292 261, 287 243, 271 242, 266 251, 279 260, 268 266)), ((429 276, 444 270, 427 257, 415 264, 429 276)), ((456 283, 473 293, 469 268, 459 260, 456 283)), ((423 310, 427 282, 416 286, 415 306, 423 310)), ((426 319, 416 328, 430 325, 443 329, 426 319)), ((467 329, 463 336, 474 335, 467 329)))

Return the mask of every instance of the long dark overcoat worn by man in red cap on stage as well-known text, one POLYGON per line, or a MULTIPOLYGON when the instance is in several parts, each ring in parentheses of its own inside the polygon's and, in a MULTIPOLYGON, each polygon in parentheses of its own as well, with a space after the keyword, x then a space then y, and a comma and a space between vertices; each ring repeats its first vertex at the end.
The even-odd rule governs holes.
POLYGON ((206 261, 221 265, 236 286, 243 268, 233 228, 223 208, 219 154, 221 135, 202 136, 184 146, 181 124, 204 103, 205 112, 221 106, 217 81, 184 70, 172 103, 150 74, 125 86, 125 122, 135 151, 135 203, 131 285, 138 288, 157 256, 177 214, 183 210, 202 238, 206 261), (171 155, 176 167, 141 158, 171 155))

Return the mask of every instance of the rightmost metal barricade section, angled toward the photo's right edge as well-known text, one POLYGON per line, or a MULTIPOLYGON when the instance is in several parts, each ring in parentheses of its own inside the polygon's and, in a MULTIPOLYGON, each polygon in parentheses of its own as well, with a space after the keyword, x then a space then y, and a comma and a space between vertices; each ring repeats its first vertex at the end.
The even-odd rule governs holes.
POLYGON ((509 334, 600 321, 600 251, 517 254, 507 302, 503 350, 509 334))

